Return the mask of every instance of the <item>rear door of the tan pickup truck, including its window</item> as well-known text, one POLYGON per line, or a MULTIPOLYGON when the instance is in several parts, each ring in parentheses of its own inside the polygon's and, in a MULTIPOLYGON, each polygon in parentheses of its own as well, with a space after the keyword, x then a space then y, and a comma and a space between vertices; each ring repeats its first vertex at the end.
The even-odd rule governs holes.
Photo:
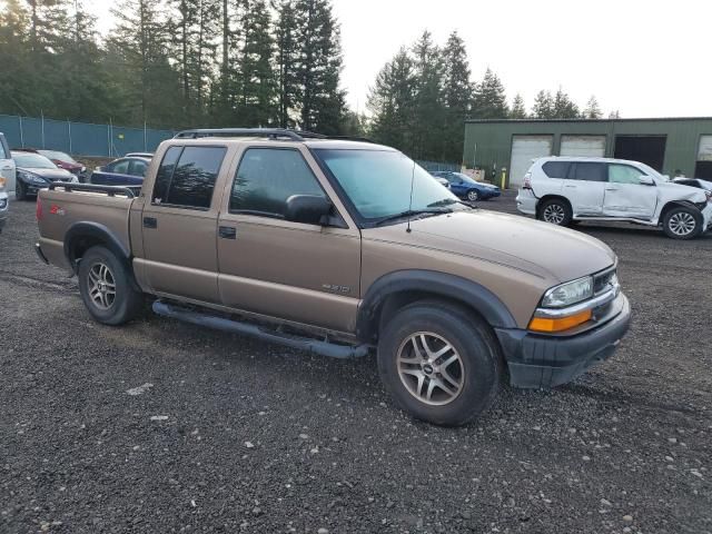
POLYGON ((147 281, 159 295, 219 303, 215 182, 227 148, 174 146, 141 215, 147 281))

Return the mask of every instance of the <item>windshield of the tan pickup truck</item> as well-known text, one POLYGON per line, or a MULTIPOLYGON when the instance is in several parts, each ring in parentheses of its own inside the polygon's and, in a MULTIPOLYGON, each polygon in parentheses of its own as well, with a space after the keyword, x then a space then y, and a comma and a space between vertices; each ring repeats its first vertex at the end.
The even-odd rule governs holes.
POLYGON ((400 152, 343 149, 317 149, 315 152, 364 219, 377 220, 408 209, 427 210, 457 202, 457 197, 400 152))

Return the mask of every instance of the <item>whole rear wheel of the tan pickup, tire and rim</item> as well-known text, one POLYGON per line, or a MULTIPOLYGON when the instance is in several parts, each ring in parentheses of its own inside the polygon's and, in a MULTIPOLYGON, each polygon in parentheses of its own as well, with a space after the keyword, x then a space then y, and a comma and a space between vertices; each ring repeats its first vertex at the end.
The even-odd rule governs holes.
POLYGON ((140 315, 144 295, 135 287, 126 265, 108 248, 96 246, 87 250, 79 263, 78 277, 81 299, 96 322, 116 326, 140 315))

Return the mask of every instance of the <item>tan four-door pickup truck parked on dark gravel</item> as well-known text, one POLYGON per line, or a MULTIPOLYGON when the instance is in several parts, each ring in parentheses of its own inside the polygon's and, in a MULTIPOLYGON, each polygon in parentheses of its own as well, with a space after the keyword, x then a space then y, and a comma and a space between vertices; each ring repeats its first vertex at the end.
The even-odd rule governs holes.
POLYGON ((55 184, 37 250, 91 316, 157 314, 333 357, 377 352, 414 416, 458 425, 503 378, 563 384, 629 328, 601 241, 464 205, 403 154, 291 130, 189 130, 140 191, 55 184))

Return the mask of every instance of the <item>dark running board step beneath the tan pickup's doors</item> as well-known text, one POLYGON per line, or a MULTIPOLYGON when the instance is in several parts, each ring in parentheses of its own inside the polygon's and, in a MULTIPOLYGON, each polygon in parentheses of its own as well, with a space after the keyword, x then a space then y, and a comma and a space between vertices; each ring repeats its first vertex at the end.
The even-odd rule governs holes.
POLYGON ((328 356, 329 358, 358 358, 366 356, 369 348, 368 345, 337 345, 326 340, 320 342, 308 337, 297 337, 275 330, 267 330, 251 323, 226 319, 225 317, 219 317, 217 315, 175 306, 162 300, 156 300, 152 308, 155 314, 164 317, 170 317, 184 323, 205 326, 216 330, 255 337, 265 342, 296 348, 298 350, 318 354, 319 356, 328 356))

